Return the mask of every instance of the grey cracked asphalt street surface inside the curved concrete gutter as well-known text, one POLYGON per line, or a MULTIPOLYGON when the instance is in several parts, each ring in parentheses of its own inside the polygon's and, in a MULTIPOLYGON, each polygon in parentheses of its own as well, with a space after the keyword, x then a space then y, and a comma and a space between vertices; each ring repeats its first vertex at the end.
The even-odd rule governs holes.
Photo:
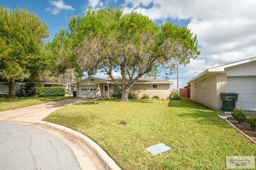
POLYGON ((58 137, 27 125, 0 122, 1 170, 80 170, 74 152, 58 137))

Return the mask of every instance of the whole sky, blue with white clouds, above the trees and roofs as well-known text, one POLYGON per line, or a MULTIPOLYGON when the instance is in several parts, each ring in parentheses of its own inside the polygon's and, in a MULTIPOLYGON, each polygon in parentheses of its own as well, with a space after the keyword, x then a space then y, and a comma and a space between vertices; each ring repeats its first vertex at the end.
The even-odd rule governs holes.
MULTIPOLYGON (((48 25, 48 39, 68 28, 70 17, 84 15, 89 6, 137 11, 156 24, 170 20, 184 24, 197 35, 201 55, 179 67, 179 88, 208 68, 256 57, 255 0, 0 0, 0 4, 36 13, 48 25)), ((106 77, 102 73, 96 76, 106 77)), ((171 88, 176 88, 177 74, 171 77, 175 82, 171 88)))

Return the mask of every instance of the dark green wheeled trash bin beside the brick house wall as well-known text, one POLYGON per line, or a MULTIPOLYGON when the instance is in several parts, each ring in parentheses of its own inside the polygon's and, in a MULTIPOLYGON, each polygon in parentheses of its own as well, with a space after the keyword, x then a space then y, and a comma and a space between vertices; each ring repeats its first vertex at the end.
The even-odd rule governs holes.
POLYGON ((220 93, 220 99, 222 100, 222 111, 231 112, 236 108, 236 101, 238 99, 237 93, 220 93))

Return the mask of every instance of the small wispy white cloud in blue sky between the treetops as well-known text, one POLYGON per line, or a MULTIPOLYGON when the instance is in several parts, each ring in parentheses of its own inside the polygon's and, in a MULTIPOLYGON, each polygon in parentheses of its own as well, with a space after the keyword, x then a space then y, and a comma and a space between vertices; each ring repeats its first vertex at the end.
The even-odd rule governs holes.
POLYGON ((53 7, 46 8, 46 11, 49 11, 53 15, 57 15, 60 13, 60 10, 71 10, 74 11, 74 8, 72 6, 66 5, 63 0, 49 0, 49 3, 53 7))

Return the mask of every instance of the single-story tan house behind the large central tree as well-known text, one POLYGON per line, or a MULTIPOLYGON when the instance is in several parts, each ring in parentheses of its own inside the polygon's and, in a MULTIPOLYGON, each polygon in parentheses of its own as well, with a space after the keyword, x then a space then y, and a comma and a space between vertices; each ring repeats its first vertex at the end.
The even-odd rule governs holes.
MULTIPOLYGON (((116 80, 121 82, 121 78, 116 78, 116 80)), ((101 79, 87 77, 73 83, 76 83, 76 97, 78 98, 110 97, 112 93, 119 91, 116 84, 114 84, 110 78, 101 79)), ((143 94, 150 94, 150 98, 154 95, 160 98, 168 98, 172 84, 174 84, 174 82, 167 80, 139 78, 133 84, 130 93, 138 95, 139 98, 141 98, 143 94)))

